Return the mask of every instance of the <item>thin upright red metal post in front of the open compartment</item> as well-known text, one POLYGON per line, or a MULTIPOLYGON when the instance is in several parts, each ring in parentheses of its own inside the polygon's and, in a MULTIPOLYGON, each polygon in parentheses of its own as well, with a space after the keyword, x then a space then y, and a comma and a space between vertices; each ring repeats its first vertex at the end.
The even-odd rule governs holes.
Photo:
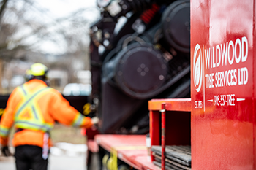
POLYGON ((162 163, 161 168, 165 170, 165 103, 162 104, 162 163))

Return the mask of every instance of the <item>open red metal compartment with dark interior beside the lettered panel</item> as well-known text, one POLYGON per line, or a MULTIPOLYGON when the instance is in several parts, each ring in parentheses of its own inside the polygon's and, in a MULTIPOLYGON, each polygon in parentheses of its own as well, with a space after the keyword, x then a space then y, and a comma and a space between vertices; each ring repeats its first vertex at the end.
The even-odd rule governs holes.
MULTIPOLYGON (((151 145, 162 145, 160 128, 165 123, 164 145, 191 144, 191 113, 190 98, 153 99, 148 101, 150 109, 151 145), (160 117, 159 111, 165 106, 165 117, 160 117), (184 112, 187 111, 187 112, 184 112), (162 121, 165 119, 165 121, 162 121)), ((151 152, 151 161, 154 156, 151 152)))

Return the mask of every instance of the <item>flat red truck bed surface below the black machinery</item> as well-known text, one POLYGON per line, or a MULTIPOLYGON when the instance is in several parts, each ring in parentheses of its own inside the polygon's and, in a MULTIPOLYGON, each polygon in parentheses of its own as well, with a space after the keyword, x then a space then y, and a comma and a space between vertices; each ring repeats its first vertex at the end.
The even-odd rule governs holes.
POLYGON ((97 135, 95 136, 97 144, 108 152, 115 149, 118 152, 118 158, 141 170, 159 170, 157 166, 148 158, 146 148, 146 135, 97 135))

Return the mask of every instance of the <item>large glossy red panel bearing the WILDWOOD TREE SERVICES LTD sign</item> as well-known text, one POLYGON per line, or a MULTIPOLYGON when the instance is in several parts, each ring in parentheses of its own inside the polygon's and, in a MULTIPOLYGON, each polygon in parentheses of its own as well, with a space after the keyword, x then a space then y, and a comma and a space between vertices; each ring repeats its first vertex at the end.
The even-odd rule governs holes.
POLYGON ((191 1, 192 169, 256 169, 255 1, 191 1))

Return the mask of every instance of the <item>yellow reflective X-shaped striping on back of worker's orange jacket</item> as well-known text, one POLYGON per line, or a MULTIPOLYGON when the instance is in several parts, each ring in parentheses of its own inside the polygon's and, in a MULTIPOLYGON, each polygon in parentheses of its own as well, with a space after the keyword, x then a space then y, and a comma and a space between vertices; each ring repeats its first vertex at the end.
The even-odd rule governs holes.
POLYGON ((50 131, 53 128, 53 123, 45 123, 41 110, 38 107, 37 101, 39 97, 51 89, 48 87, 39 88, 34 93, 30 93, 25 85, 20 86, 23 92, 23 103, 20 104, 15 113, 15 126, 17 128, 50 131))

